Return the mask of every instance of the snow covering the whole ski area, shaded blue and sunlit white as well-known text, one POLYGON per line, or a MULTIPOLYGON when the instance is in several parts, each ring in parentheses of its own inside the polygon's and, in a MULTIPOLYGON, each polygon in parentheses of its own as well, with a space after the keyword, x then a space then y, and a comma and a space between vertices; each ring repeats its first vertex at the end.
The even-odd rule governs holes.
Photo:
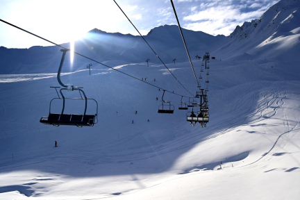
MULTIPOLYGON (((280 1, 278 5, 290 2, 280 1)), ((295 2, 298 4, 292 8, 299 8, 299 1, 295 2)), ((261 19, 273 20, 274 16, 268 17, 267 13, 269 10, 261 19)), ((92 128, 40 124, 40 117, 49 113, 50 100, 56 97, 49 86, 58 86, 53 72, 58 69, 61 52, 56 47, 39 47, 52 48, 55 56, 45 60, 52 63, 53 69, 45 67, 36 74, 31 63, 0 75, 0 199, 299 199, 300 68, 296 25, 289 26, 284 34, 290 35, 284 37, 280 28, 261 38, 258 36, 263 33, 257 33, 252 39, 256 45, 251 48, 246 40, 235 37, 220 39, 231 40, 224 51, 212 47, 210 55, 219 57, 210 62, 207 128, 185 121, 186 111, 178 110, 181 97, 165 94, 164 99, 172 101, 176 110, 174 115, 158 114, 160 101, 156 97, 160 99, 163 91, 95 63, 89 76, 85 67, 89 62, 78 56, 73 66, 67 56, 64 67, 69 73, 61 78, 63 83, 83 87, 89 98, 98 101, 99 123, 92 128), (262 41, 271 35, 269 40, 275 42, 263 45, 262 41), (255 56, 252 51, 270 57, 255 56), (235 56, 218 59, 228 52, 235 56), (276 53, 290 52, 294 57, 271 58, 276 53)), ((148 36, 156 31, 159 27, 148 36)), ((111 48, 117 51, 117 47, 111 48)), ((181 51, 184 49, 176 52, 181 51)), ((197 54, 202 56, 204 52, 197 54)), ((30 63, 33 57, 27 57, 30 63)), ((19 58, 16 54, 15 60, 19 58)), ((108 59, 106 64, 188 96, 165 67, 152 60, 149 67, 135 62, 135 56, 108 59)), ((193 61, 198 76, 201 60, 193 61)), ((195 91, 188 62, 170 62, 168 67, 188 90, 195 91)), ((205 86, 203 81, 201 85, 205 86)), ((67 96, 79 94, 67 92, 67 96)), ((53 103, 54 113, 60 112, 60 103, 53 103)), ((67 103, 65 113, 83 112, 83 101, 67 103)), ((88 113, 94 110, 94 104, 89 103, 88 113)))

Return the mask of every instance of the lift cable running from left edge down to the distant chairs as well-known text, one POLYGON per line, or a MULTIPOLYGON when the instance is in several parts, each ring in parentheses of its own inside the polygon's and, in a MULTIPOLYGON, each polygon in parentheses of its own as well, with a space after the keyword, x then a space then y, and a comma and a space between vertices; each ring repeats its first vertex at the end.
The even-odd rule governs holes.
MULTIPOLYGON (((40 37, 40 36, 38 36, 38 35, 35 35, 34 33, 31 33, 31 32, 29 32, 29 31, 26 31, 26 30, 24 30, 23 28, 20 28, 19 26, 15 26, 15 25, 13 25, 13 24, 10 24, 9 22, 4 21, 3 19, 0 19, 0 21, 1 21, 1 22, 4 22, 4 23, 6 23, 6 24, 8 24, 8 25, 10 25, 10 26, 13 26, 13 27, 15 27, 15 28, 18 28, 18 29, 21 30, 21 31, 24 31, 24 32, 26 32, 26 33, 29 33, 29 34, 31 34, 31 35, 34 35, 35 37, 38 37, 38 38, 40 38, 40 39, 42 39, 42 40, 45 40, 45 41, 47 41, 47 42, 50 42, 51 44, 54 44, 54 45, 56 45, 56 46, 58 46, 58 47, 61 47, 61 48, 63 48, 63 49, 68 49, 67 47, 63 47, 63 46, 61 46, 60 44, 56 44, 56 43, 54 43, 54 42, 51 42, 50 40, 47 40, 47 39, 42 38, 42 37, 40 37)), ((70 49, 68 49, 68 50, 70 50, 70 49)), ((77 53, 77 52, 75 52, 75 51, 74 51, 74 53, 77 54, 78 56, 82 56, 83 58, 87 58, 88 60, 92 60, 92 61, 94 61, 95 63, 99 63, 100 65, 103 65, 103 66, 108 67, 108 68, 110 68, 110 69, 113 69, 113 70, 115 70, 115 71, 117 71, 117 72, 120 72, 120 73, 122 73, 122 74, 125 74, 125 75, 127 75, 127 76, 130 76, 131 78, 135 78, 135 79, 138 80, 138 81, 142 81, 142 80, 140 80, 140 78, 136 78, 135 76, 132 76, 132 75, 130 75, 130 74, 126 74, 125 72, 121 72, 121 71, 119 71, 119 70, 117 70, 117 69, 115 69, 115 68, 113 68, 113 67, 110 67, 110 66, 108 66, 108 65, 105 65, 105 64, 103 64, 103 63, 100 63, 100 62, 97 61, 97 60, 94 60, 94 59, 92 59, 92 58, 89 58, 89 57, 87 57, 87 56, 84 56, 84 55, 82 55, 81 53, 77 53)), ((156 85, 153 85, 153 84, 151 84, 151 83, 148 83, 148 82, 146 82, 146 81, 142 81, 142 82, 143 82, 143 83, 147 83, 148 85, 151 85, 151 86, 153 86, 153 87, 155 87, 155 88, 165 90, 165 89, 163 89, 163 88, 160 88, 160 87, 158 87, 158 86, 156 86, 156 85)), ((183 96, 183 95, 181 95, 181 94, 177 94, 177 93, 171 92, 171 91, 169 91, 169 90, 165 90, 165 92, 169 92, 169 93, 172 93, 172 94, 176 94, 176 95, 178 95, 178 96, 183 96)), ((187 97, 187 96, 183 96, 183 97, 187 97)))

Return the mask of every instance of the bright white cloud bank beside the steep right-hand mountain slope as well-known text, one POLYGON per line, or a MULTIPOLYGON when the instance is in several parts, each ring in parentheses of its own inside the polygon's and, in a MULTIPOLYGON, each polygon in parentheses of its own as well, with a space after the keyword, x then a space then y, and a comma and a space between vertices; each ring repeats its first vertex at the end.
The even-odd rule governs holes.
POLYGON ((243 3, 240 4, 236 4, 233 0, 204 1, 199 6, 202 10, 183 17, 185 21, 184 28, 203 31, 211 35, 229 35, 235 29, 235 26, 242 25, 252 19, 258 19, 265 10, 278 2, 267 0, 263 0, 264 2, 262 0, 242 1, 243 3))

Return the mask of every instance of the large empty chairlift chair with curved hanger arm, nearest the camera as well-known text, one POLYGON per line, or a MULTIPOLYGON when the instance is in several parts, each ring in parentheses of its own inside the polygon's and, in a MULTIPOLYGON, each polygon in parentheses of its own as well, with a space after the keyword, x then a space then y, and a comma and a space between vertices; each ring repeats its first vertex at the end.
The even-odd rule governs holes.
POLYGON ((74 87, 71 84, 67 84, 65 85, 62 81, 60 81, 60 72, 63 68, 63 62, 65 60, 65 54, 67 53, 67 51, 69 51, 69 49, 61 49, 60 51, 63 51, 63 57, 60 61, 60 67, 58 69, 58 83, 60 83, 61 86, 63 86, 63 88, 60 89, 60 95, 58 94, 58 90, 57 88, 60 87, 50 87, 50 88, 55 88, 56 93, 58 94, 58 98, 53 98, 50 101, 50 106, 49 106, 49 116, 48 117, 41 117, 40 119, 40 123, 42 124, 47 124, 47 125, 53 125, 53 126, 60 126, 60 125, 68 125, 68 126, 77 126, 79 128, 83 127, 83 126, 94 126, 94 124, 98 123, 98 103, 96 100, 94 99, 88 99, 85 95, 85 92, 83 92, 82 88, 80 87, 74 87), (79 94, 81 95, 81 98, 65 98, 64 94, 63 94, 63 90, 67 90, 67 91, 74 91, 74 90, 78 90, 79 94), (83 95, 83 96, 82 96, 83 95), (63 100, 63 109, 61 113, 51 113, 51 103, 54 99, 60 99, 63 100), (65 100, 66 99, 72 99, 72 100, 84 100, 85 101, 85 110, 83 112, 83 115, 78 115, 78 114, 65 114, 64 110, 65 110, 65 100), (88 101, 94 101, 96 103, 96 112, 94 115, 88 115, 87 112, 87 108, 88 108, 88 101), (97 120, 97 122, 96 122, 97 120))

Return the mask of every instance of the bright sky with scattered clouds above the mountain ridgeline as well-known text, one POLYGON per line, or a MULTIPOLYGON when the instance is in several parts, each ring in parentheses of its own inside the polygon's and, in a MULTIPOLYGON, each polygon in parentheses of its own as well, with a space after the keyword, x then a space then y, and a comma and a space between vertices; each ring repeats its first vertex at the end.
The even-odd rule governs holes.
MULTIPOLYGON (((142 35, 151 28, 177 24, 169 0, 116 0, 142 35)), ((229 35, 236 26, 258 19, 278 0, 174 0, 183 28, 229 35)), ((138 35, 113 0, 0 0, 0 19, 58 44, 78 40, 98 28, 138 35)), ((51 46, 0 22, 0 46, 51 46)))

